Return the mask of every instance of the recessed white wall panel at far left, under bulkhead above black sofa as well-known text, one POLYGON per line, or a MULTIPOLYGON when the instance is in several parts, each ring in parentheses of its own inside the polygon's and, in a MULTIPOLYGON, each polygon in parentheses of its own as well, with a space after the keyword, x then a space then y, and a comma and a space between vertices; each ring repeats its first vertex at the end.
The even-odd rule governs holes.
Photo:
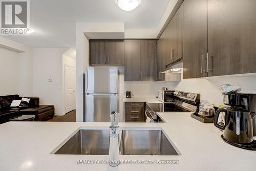
POLYGON ((19 94, 19 55, 0 49, 0 95, 19 94))

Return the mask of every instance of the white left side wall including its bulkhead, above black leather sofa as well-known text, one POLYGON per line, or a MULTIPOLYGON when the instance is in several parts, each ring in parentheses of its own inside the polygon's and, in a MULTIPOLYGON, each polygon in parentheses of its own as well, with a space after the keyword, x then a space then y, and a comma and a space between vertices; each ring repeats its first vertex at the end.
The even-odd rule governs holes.
POLYGON ((0 94, 32 96, 32 48, 0 37, 0 94))

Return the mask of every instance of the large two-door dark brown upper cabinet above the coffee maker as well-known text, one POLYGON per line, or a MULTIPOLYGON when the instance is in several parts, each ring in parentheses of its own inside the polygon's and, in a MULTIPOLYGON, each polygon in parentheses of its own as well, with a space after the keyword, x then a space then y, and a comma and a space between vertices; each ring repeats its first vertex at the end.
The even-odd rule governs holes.
POLYGON ((256 72, 256 1, 185 0, 183 78, 256 72))

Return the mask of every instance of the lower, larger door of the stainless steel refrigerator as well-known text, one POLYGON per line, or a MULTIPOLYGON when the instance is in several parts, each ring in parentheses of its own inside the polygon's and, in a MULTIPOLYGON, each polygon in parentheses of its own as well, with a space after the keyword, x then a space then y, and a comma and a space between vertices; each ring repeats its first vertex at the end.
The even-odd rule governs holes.
POLYGON ((110 122, 110 112, 118 112, 118 94, 86 93, 86 122, 110 122))

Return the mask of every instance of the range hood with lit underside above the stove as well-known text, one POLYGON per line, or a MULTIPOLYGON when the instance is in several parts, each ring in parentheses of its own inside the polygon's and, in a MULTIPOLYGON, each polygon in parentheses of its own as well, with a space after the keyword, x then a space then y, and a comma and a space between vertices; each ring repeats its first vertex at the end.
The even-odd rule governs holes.
POLYGON ((181 81, 182 69, 183 63, 181 62, 162 70, 161 73, 165 74, 165 81, 181 81))

